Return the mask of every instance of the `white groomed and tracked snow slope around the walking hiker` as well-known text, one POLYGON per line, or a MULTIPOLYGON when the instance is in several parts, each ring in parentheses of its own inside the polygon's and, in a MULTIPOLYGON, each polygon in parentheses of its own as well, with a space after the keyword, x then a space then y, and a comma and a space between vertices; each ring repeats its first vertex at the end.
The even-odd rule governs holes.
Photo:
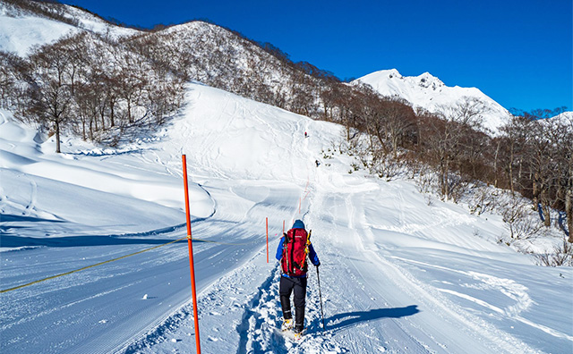
MULTIPOLYGON (((64 138, 60 155, 0 112, 0 289, 184 238, 186 154, 203 352, 573 350, 573 270, 497 244, 500 216, 349 173, 336 124, 200 84, 186 103, 155 136, 120 150, 64 138), (273 255, 296 218, 321 288, 311 269, 308 334, 292 342, 275 331, 273 255)), ((194 352, 190 293, 185 241, 7 291, 0 351, 194 352)))

